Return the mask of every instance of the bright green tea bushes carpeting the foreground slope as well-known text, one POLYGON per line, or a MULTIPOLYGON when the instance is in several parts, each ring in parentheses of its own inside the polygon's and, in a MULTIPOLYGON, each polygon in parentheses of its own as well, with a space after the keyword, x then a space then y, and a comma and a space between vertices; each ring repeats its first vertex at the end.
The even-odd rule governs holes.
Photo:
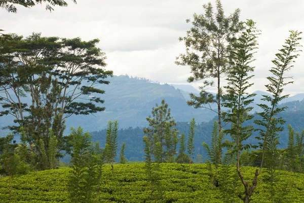
MULTIPOLYGON (((94 194, 96 202, 242 202, 240 197, 243 195, 243 185, 231 174, 222 175, 221 178, 232 177, 230 181, 235 183, 226 186, 233 187, 231 189, 234 193, 224 192, 224 186, 219 183, 212 188, 208 164, 192 164, 191 167, 188 164, 161 164, 161 186, 164 191, 162 200, 150 200, 150 183, 146 179, 143 163, 116 164, 114 167, 115 171, 112 173, 110 165, 104 166, 101 187, 94 194)), ((253 178, 255 168, 243 167, 242 170, 245 177, 253 178)), ((65 167, 31 172, 14 177, 13 180, 8 177, 0 178, 0 202, 69 202, 69 171, 70 168, 65 167)), ((278 174, 273 187, 278 202, 303 202, 304 174, 285 171, 278 174)), ((271 202, 268 180, 267 173, 259 177, 258 186, 250 202, 271 202)))

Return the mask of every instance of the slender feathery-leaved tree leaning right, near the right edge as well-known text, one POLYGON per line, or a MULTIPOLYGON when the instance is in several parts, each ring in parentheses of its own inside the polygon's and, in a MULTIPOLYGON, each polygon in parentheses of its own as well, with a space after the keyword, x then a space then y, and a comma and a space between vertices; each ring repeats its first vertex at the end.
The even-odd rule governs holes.
MULTIPOLYGON (((263 95, 263 98, 261 99, 268 101, 270 105, 259 104, 258 106, 262 108, 263 111, 257 114, 261 116, 261 119, 254 121, 255 124, 261 126, 261 128, 258 129, 260 136, 257 137, 257 139, 261 141, 259 143, 259 147, 262 150, 262 154, 259 170, 256 170, 255 172, 253 185, 248 191, 248 195, 254 192, 257 184, 257 177, 262 172, 265 154, 270 148, 270 135, 275 136, 277 133, 283 130, 282 125, 285 123, 285 120, 282 117, 277 117, 277 115, 278 113, 285 111, 287 107, 278 107, 278 104, 281 100, 289 96, 282 95, 283 87, 293 83, 293 81, 286 82, 286 80, 290 79, 290 77, 285 77, 285 74, 291 70, 294 59, 299 56, 297 52, 299 51, 298 47, 301 47, 301 45, 298 43, 298 41, 301 40, 299 37, 301 33, 302 32, 291 30, 289 38, 285 40, 285 45, 283 45, 283 48, 279 50, 279 53, 276 54, 276 58, 272 61, 276 67, 271 67, 270 72, 273 74, 273 76, 267 77, 270 83, 265 85, 267 91, 272 95, 263 95)), ((247 202, 249 202, 249 198, 247 202)))

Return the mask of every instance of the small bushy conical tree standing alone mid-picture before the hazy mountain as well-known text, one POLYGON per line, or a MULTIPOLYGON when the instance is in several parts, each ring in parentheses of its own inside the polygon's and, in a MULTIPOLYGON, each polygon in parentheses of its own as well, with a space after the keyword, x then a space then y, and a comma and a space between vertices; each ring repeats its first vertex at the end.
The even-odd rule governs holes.
POLYGON ((160 162, 164 162, 166 159, 166 151, 164 149, 166 146, 166 133, 170 136, 173 135, 173 137, 175 137, 174 134, 178 133, 175 128, 172 128, 176 125, 176 122, 171 116, 171 109, 168 109, 165 99, 162 100, 160 106, 156 104, 156 107, 152 108, 152 116, 148 116, 146 120, 149 122, 149 127, 143 128, 143 133, 147 134, 150 140, 150 152, 155 155, 154 147, 156 143, 160 143, 160 162))

